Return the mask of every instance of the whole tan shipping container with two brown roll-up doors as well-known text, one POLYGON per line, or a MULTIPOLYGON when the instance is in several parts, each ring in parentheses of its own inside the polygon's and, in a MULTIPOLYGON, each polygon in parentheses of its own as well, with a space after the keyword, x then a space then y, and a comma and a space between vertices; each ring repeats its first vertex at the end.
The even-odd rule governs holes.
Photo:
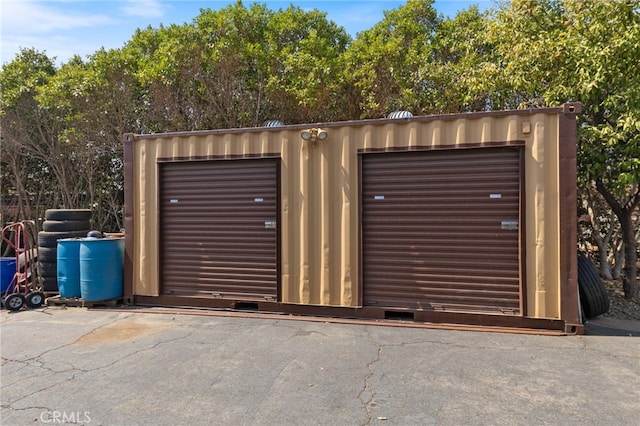
POLYGON ((127 134, 126 302, 580 333, 580 109, 127 134))

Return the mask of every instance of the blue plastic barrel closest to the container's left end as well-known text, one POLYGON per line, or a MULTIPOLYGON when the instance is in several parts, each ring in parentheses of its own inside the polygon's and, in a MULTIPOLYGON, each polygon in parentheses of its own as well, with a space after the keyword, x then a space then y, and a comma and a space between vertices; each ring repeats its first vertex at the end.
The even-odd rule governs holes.
POLYGON ((80 295, 87 302, 122 297, 124 238, 80 240, 80 295))

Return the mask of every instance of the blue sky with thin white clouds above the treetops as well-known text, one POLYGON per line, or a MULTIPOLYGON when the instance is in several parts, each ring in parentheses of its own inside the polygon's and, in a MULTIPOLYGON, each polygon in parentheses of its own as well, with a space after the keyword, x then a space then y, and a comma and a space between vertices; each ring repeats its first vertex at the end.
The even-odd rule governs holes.
MULTIPOLYGON (((33 47, 56 57, 58 64, 74 54, 83 58, 104 47, 122 47, 137 28, 192 22, 200 9, 220 9, 235 0, 1 0, 1 63, 11 61, 20 47, 33 47)), ((253 0, 245 0, 249 6, 253 0)), ((295 4, 303 9, 327 12, 327 17, 355 36, 379 22, 385 10, 405 1, 266 1, 272 10, 295 4)), ((445 16, 477 4, 493 6, 493 0, 437 0, 436 9, 445 16)))

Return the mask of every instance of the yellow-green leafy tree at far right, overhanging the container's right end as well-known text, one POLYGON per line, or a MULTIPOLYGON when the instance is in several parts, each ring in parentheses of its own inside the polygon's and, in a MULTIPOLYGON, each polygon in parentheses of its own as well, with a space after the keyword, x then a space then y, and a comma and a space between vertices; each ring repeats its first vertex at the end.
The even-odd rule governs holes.
POLYGON ((626 297, 637 297, 640 1, 513 0, 498 11, 492 37, 514 102, 584 104, 579 181, 593 182, 618 218, 623 289, 626 297))

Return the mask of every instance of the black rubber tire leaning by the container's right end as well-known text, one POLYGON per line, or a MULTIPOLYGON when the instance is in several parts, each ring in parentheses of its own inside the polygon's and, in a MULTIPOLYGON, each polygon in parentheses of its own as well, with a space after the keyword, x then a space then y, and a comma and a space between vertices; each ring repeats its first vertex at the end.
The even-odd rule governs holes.
POLYGON ((578 287, 585 318, 591 319, 607 313, 607 290, 594 264, 582 253, 578 253, 578 287))

